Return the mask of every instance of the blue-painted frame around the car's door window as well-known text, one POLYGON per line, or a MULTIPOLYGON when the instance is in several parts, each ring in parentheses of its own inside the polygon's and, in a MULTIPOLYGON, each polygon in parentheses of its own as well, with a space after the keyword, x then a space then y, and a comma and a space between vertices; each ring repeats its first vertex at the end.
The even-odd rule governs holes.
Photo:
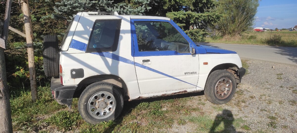
MULTIPOLYGON (((137 36, 136 36, 136 30, 135 30, 135 21, 157 21, 157 22, 168 22, 173 27, 175 27, 179 33, 189 42, 190 48, 192 47, 192 44, 195 44, 187 35, 184 33, 181 28, 179 28, 173 21, 169 20, 156 20, 156 19, 131 19, 131 55, 133 57, 139 57, 139 56, 170 56, 170 55, 190 55, 191 53, 178 53, 177 51, 139 51, 138 49, 138 43, 137 43, 137 36), (132 41, 133 40, 133 41, 132 41), (134 54, 133 54, 134 53, 134 54)), ((198 52, 196 52, 198 53, 198 52)))

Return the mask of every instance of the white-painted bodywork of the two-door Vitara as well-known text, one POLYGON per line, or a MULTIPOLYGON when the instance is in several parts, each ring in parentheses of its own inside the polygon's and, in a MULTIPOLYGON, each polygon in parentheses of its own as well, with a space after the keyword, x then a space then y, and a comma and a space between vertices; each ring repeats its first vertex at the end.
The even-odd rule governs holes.
MULTIPOLYGON (((81 13, 80 13, 81 14, 81 13)), ((241 66, 241 60, 237 54, 195 54, 174 56, 131 56, 131 25, 130 18, 134 19, 163 19, 165 17, 151 16, 117 16, 117 15, 88 15, 75 17, 76 24, 71 25, 64 46, 60 52, 60 64, 63 68, 62 77, 64 85, 78 85, 83 79, 101 75, 112 74, 119 76, 127 85, 130 100, 170 95, 177 92, 202 91, 209 72, 215 66, 222 63, 233 63, 241 66), (78 21, 79 19, 79 21, 78 21), (143 59, 150 59, 147 67, 163 72, 185 82, 149 71, 132 64, 105 58, 92 53, 85 53, 74 48, 68 48, 71 39, 88 43, 92 27, 97 19, 122 19, 119 45, 116 51, 111 52, 131 61, 142 64, 143 59), (73 26, 75 25, 75 26, 73 26), (64 51, 63 51, 64 50, 64 51), (203 65, 208 62, 208 65, 203 65), (72 79, 71 69, 84 69, 84 77, 72 79), (185 74, 186 72, 194 72, 185 74), (197 72, 197 73, 195 73, 197 72), (137 75, 137 76, 136 76, 137 75), (198 87, 196 87, 198 86, 198 87)))

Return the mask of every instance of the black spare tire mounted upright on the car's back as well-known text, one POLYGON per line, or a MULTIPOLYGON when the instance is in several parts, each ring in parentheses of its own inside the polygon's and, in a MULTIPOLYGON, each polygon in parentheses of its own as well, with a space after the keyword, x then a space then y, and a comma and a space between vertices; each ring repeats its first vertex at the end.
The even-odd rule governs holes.
POLYGON ((43 67, 46 77, 59 76, 59 42, 56 35, 46 35, 43 39, 43 67))

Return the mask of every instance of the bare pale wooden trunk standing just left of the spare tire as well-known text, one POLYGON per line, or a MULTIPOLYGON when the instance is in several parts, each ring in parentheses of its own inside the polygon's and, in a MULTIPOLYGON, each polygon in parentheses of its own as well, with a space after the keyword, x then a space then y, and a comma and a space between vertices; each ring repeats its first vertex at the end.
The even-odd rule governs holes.
POLYGON ((35 63, 34 63, 33 31, 32 31, 32 25, 31 25, 29 0, 21 0, 21 4, 22 4, 22 11, 24 14, 24 26, 25 26, 25 31, 26 31, 31 96, 32 96, 32 101, 36 102, 36 99, 37 99, 36 82, 37 82, 37 80, 36 80, 35 63))

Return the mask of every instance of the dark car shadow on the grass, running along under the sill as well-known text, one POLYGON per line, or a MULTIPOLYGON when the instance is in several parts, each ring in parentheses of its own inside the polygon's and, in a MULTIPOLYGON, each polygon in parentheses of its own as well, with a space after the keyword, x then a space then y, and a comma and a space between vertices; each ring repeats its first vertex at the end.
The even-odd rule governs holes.
POLYGON ((155 97, 155 98, 146 98, 146 99, 139 99, 139 100, 132 100, 132 101, 124 101, 124 108, 119 116, 118 119, 115 120, 115 124, 113 126, 106 128, 104 130, 105 133, 112 132, 115 127, 119 124, 122 123, 124 120, 124 117, 129 115, 133 109, 138 106, 138 104, 142 102, 154 102, 154 101, 159 101, 159 100, 169 100, 169 99, 176 99, 176 98, 187 98, 187 97, 192 97, 192 96, 200 96, 204 95, 204 92, 193 92, 193 93, 185 93, 185 94, 178 94, 178 95, 168 95, 168 96, 162 96, 162 97, 155 97))

